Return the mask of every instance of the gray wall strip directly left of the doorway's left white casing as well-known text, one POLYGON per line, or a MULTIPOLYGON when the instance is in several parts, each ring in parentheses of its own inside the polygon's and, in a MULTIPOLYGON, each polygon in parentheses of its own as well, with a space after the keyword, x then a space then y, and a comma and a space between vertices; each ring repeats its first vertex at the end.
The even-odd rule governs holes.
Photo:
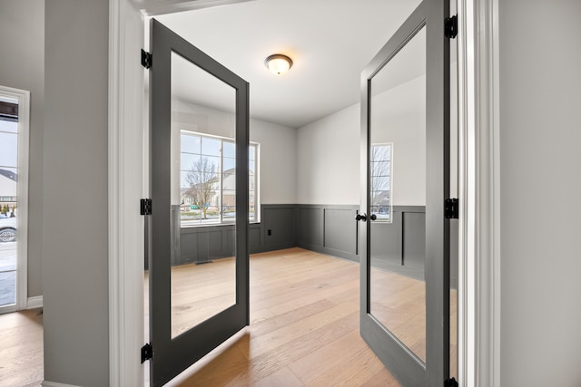
POLYGON ((109 382, 109 5, 45 10, 44 380, 109 382))

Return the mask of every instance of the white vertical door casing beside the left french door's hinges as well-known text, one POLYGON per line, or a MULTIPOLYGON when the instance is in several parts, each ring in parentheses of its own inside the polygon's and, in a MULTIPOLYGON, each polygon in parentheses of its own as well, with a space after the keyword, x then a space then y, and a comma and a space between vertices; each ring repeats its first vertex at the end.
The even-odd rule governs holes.
POLYGON ((109 385, 143 385, 143 15, 109 1, 109 385))

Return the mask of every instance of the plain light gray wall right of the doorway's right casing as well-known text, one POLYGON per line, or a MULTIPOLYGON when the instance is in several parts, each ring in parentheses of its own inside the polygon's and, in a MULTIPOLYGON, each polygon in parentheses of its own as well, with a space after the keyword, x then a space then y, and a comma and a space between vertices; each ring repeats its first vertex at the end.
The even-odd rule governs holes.
POLYGON ((581 2, 498 3, 501 385, 580 386, 581 2))

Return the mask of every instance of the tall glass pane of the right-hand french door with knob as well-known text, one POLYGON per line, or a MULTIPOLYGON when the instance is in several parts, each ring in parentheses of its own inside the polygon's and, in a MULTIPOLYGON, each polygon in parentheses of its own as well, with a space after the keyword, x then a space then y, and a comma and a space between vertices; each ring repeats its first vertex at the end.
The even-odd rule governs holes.
POLYGON ((369 87, 370 313, 425 362, 425 27, 369 87), (399 249, 389 235, 401 236, 399 249))

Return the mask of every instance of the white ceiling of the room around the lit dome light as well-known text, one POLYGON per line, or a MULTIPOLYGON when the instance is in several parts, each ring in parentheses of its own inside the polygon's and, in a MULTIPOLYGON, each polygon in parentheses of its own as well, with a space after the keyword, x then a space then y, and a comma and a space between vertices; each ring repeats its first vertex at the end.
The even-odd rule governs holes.
POLYGON ((253 0, 155 18, 250 82, 251 116, 292 128, 359 102, 360 73, 418 0, 253 0), (271 53, 292 58, 272 75, 271 53))

